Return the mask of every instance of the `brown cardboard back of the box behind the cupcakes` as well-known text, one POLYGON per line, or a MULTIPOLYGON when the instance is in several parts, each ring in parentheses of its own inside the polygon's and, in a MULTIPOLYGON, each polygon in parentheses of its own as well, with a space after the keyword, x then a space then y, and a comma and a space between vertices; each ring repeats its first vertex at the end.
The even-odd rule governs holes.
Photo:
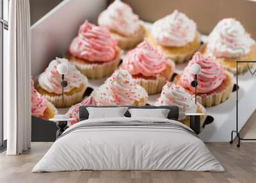
MULTIPOLYGON (((113 0, 112 0, 113 1, 113 0)), ((209 34, 219 20, 234 17, 256 39, 256 2, 248 0, 122 0, 129 3, 142 20, 154 22, 177 9, 195 20, 201 33, 209 34), (147 6, 146 6, 147 5, 147 6)), ((111 1, 110 1, 111 2, 111 1)))

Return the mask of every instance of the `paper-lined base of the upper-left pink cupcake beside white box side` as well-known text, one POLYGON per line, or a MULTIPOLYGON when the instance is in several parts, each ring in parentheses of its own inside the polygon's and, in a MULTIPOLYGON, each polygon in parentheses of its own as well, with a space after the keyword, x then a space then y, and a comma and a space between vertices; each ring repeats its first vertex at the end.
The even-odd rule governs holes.
POLYGON ((87 64, 83 61, 77 61, 78 59, 73 57, 70 59, 76 68, 88 77, 88 79, 102 79, 104 77, 110 76, 114 70, 118 67, 120 63, 121 50, 116 49, 116 58, 113 61, 106 61, 104 63, 92 63, 87 64))

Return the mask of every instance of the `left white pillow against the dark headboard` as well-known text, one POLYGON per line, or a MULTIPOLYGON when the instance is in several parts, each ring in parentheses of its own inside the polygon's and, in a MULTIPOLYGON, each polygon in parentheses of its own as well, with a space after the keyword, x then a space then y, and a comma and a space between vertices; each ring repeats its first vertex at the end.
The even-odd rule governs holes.
POLYGON ((128 107, 86 107, 89 119, 125 117, 128 107))

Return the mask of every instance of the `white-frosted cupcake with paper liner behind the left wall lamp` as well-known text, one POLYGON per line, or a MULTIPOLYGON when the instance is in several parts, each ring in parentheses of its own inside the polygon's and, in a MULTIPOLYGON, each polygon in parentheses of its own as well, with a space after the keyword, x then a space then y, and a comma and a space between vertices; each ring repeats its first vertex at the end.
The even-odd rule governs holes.
POLYGON ((74 65, 65 58, 56 58, 38 77, 36 89, 55 107, 70 107, 83 98, 87 86, 88 79, 74 65), (61 75, 57 70, 57 66, 61 63, 68 66, 68 72, 65 74, 68 85, 64 88, 64 101, 62 101, 61 75))

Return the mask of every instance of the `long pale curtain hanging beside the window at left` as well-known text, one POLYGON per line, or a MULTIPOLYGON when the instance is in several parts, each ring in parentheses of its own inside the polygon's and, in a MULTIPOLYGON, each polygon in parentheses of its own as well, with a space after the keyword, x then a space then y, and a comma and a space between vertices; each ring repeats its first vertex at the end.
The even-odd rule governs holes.
POLYGON ((29 0, 10 1, 8 60, 4 63, 4 120, 8 155, 31 145, 29 0))

